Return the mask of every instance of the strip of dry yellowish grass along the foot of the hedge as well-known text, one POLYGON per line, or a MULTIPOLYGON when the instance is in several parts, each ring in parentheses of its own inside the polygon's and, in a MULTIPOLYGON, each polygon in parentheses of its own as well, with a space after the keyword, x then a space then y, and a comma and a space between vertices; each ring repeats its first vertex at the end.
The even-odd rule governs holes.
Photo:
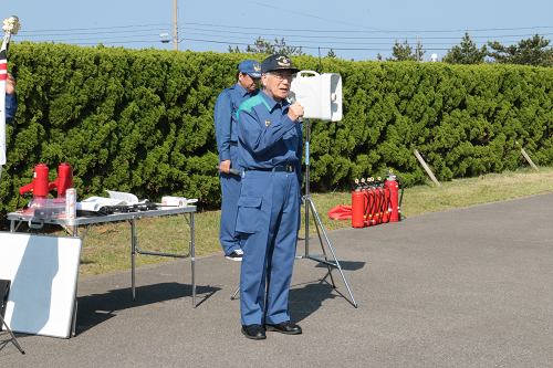
MULTIPOLYGON (((491 174, 478 178, 456 179, 436 187, 427 183, 407 188, 401 203, 403 217, 410 217, 458 207, 487 203, 510 198, 553 191, 553 168, 540 172, 522 169, 514 172, 491 174)), ((351 192, 312 193, 325 230, 351 227, 351 220, 331 220, 326 212, 337 204, 351 204, 351 192)), ((201 211, 195 215, 196 254, 221 250, 219 244, 220 211, 201 211)), ((302 223, 305 221, 302 207, 302 223)), ((83 243, 81 276, 102 274, 131 267, 131 225, 127 222, 96 224, 83 243)), ((59 228, 51 234, 62 234, 59 228)), ((84 228, 80 228, 84 231, 84 228)), ((310 232, 315 232, 313 224, 310 232)), ((300 234, 304 234, 302 227, 300 234)), ((145 218, 136 221, 138 249, 149 252, 187 253, 190 231, 182 215, 145 218)), ((221 254, 222 256, 222 254, 221 254)), ((136 255, 136 264, 145 265, 173 259, 136 255)))

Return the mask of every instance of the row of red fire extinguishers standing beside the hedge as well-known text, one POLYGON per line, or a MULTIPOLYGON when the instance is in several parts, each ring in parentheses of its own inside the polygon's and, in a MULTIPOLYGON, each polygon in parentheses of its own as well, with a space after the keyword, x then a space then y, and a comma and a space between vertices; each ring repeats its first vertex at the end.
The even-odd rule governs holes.
POLYGON ((352 227, 364 228, 379 223, 401 221, 401 200, 404 198, 404 180, 392 172, 384 177, 355 179, 357 188, 352 192, 352 227), (401 196, 398 199, 398 178, 401 181, 401 196))

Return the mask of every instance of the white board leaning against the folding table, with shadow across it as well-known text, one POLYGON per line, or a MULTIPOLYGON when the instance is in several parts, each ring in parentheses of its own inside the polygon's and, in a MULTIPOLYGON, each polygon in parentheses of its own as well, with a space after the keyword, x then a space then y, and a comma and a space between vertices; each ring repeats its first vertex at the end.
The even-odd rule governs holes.
POLYGON ((11 280, 4 319, 13 332, 70 337, 82 243, 0 232, 0 278, 11 280))

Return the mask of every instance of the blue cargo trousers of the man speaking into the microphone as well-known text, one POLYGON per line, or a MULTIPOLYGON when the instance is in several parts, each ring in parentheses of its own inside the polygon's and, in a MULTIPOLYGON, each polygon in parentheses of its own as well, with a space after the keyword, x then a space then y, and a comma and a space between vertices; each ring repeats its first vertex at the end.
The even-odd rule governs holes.
POLYGON ((295 172, 244 171, 237 219, 244 251, 240 274, 242 325, 290 319, 288 296, 299 220, 300 185, 295 172))

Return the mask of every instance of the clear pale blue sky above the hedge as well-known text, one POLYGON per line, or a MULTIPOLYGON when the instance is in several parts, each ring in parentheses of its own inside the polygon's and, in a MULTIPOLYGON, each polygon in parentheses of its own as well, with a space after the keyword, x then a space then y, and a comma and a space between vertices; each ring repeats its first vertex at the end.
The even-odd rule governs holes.
MULTIPOLYGON (((173 0, 2 2, 0 20, 17 15, 22 24, 12 42, 174 49, 173 0)), ((466 31, 478 48, 487 41, 517 44, 536 33, 553 39, 552 0, 177 0, 177 8, 182 51, 226 53, 259 36, 284 38, 306 54, 324 57, 332 49, 337 57, 361 61, 389 57, 396 40, 415 46, 418 34, 422 59, 429 60, 445 56, 466 31)))

